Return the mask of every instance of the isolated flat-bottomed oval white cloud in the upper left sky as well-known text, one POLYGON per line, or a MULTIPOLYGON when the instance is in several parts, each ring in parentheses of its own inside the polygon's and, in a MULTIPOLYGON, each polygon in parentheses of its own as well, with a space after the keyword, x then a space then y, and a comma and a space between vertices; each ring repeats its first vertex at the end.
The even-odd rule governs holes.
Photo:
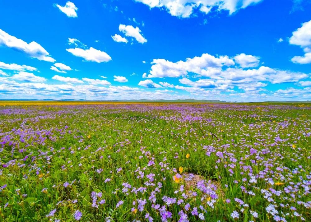
POLYGON ((74 48, 74 49, 66 49, 67 52, 72 53, 74 56, 82 57, 86 61, 92 61, 92 62, 108 62, 111 60, 111 57, 98 49, 94 49, 91 47, 90 49, 80 49, 80 48, 74 48))

